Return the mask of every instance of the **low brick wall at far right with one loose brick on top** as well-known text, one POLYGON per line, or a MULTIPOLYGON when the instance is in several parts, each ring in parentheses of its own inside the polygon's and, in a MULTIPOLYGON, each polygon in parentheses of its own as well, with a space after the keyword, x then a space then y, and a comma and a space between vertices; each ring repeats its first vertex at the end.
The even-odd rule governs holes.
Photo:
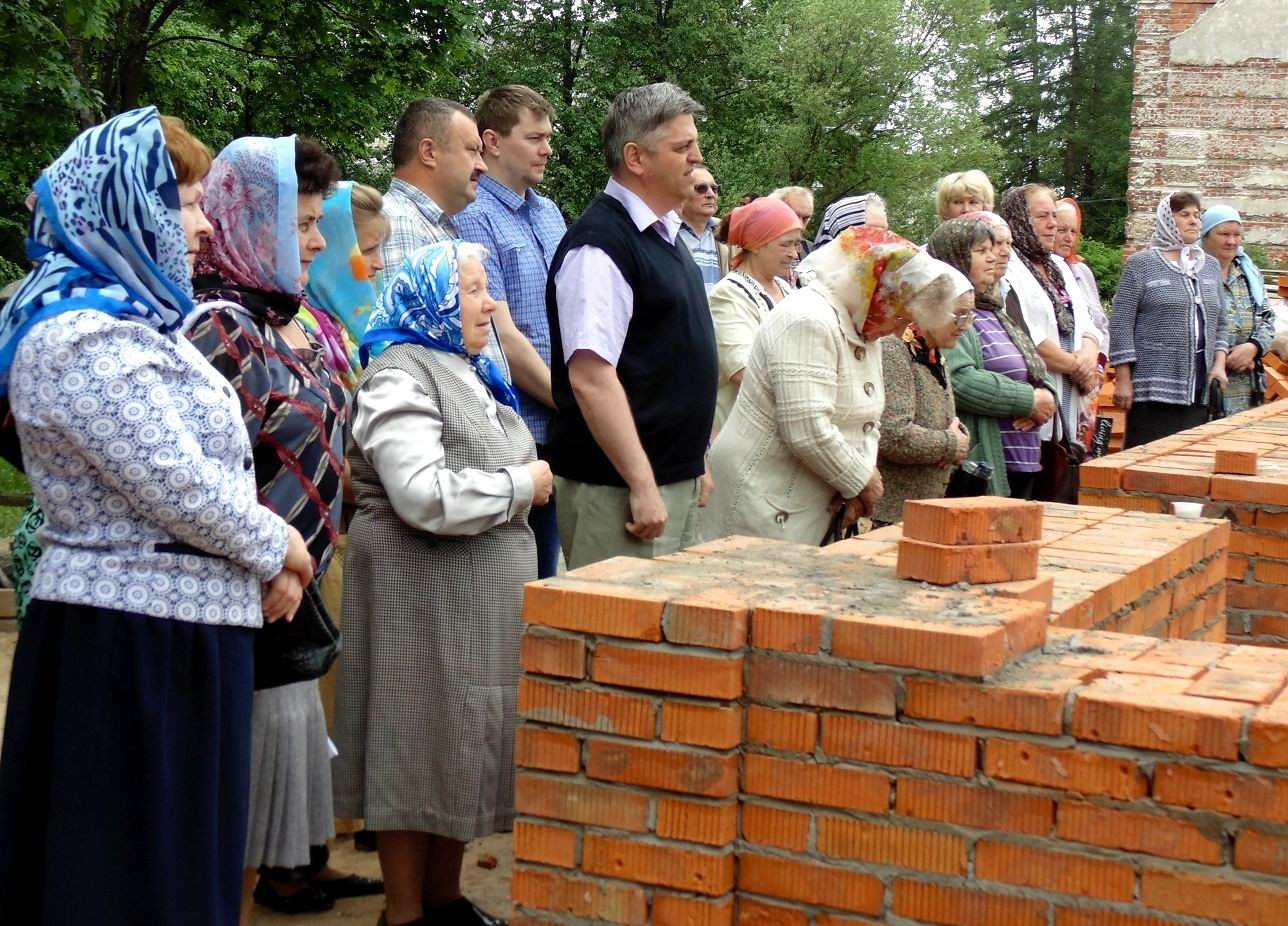
POLYGON ((1088 461, 1078 501, 1229 520, 1226 639, 1288 647, 1288 402, 1088 461))

